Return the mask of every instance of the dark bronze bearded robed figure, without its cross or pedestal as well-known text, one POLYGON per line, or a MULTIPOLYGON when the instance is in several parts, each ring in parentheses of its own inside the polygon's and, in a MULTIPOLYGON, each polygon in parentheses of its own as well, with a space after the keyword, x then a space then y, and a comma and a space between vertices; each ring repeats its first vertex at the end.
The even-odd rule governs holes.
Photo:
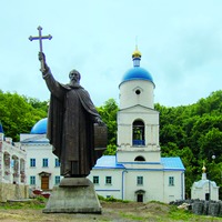
POLYGON ((93 124, 104 123, 89 93, 80 85, 81 75, 77 70, 70 71, 70 83, 61 84, 54 80, 43 52, 39 52, 39 60, 51 92, 47 137, 59 158, 61 175, 87 176, 102 154, 94 149, 93 124))

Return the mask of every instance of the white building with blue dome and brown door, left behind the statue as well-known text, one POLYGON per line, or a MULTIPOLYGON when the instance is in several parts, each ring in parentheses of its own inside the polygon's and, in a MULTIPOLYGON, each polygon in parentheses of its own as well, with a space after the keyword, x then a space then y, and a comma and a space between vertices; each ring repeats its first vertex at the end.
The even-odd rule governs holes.
POLYGON ((27 182, 32 190, 50 191, 60 183, 60 163, 46 132, 47 118, 37 122, 29 134, 20 134, 27 152, 27 182))

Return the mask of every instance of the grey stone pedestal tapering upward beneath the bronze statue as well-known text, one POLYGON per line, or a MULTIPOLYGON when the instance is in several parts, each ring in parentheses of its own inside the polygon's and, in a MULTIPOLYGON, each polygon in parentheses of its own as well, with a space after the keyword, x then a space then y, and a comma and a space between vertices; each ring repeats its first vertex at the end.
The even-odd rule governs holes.
POLYGON ((85 178, 64 178, 54 186, 43 213, 101 213, 94 185, 85 178))

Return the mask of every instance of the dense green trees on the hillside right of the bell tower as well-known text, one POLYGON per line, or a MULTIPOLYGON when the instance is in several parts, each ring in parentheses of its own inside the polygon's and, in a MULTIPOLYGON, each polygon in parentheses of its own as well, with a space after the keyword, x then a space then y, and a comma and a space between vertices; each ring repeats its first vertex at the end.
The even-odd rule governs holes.
MULTIPOLYGON (((196 103, 167 108, 155 104, 160 111, 160 144, 162 155, 181 157, 185 167, 186 192, 190 186, 201 178, 203 161, 206 162, 209 174, 221 184, 222 162, 222 91, 212 92, 208 98, 196 103), (211 165, 212 154, 216 155, 214 165, 211 165)), ((221 192, 220 192, 220 198, 221 192)))

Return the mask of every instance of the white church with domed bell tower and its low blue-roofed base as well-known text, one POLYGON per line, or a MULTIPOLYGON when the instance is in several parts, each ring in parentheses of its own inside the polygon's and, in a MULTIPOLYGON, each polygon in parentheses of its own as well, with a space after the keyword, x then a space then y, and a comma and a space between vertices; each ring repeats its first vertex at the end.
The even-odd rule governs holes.
POLYGON ((118 150, 102 157, 89 179, 98 194, 138 202, 184 199, 184 167, 179 157, 161 158, 154 82, 132 54, 133 68, 122 78, 118 112, 118 150))

